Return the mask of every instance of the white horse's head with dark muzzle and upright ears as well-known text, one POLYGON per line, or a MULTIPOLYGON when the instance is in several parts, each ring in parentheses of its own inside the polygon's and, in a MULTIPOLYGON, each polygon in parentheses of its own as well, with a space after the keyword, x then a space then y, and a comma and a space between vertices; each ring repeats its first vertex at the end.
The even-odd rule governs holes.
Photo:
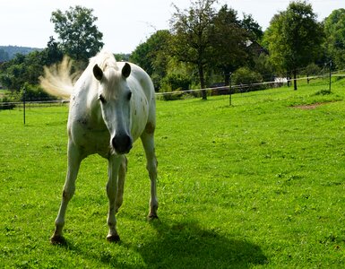
POLYGON ((132 149, 131 97, 126 79, 131 74, 131 65, 125 63, 121 71, 106 67, 103 71, 94 65, 93 75, 99 81, 99 102, 103 120, 110 134, 110 145, 116 154, 125 154, 132 149))

